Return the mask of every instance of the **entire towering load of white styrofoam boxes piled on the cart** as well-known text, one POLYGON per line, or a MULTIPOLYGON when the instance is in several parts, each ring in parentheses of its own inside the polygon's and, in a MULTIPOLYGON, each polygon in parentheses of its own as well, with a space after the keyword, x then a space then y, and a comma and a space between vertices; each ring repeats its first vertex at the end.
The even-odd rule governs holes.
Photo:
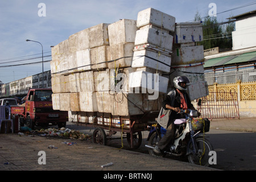
POLYGON ((191 34, 197 24, 186 32, 184 26, 175 28, 173 16, 150 8, 137 21, 101 23, 69 36, 52 48, 53 109, 68 111, 69 121, 110 125, 111 115, 160 110, 174 76, 188 76, 194 93, 204 81, 203 47, 194 46, 203 35, 191 34))

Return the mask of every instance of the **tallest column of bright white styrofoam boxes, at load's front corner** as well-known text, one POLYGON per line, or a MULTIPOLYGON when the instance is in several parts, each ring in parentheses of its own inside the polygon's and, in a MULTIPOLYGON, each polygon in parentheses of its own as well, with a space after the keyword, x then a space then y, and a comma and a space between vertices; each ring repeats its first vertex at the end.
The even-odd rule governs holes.
POLYGON ((158 73, 158 76, 152 76, 152 80, 148 82, 154 85, 152 88, 155 92, 166 93, 168 78, 163 77, 162 73, 170 72, 173 42, 171 34, 175 29, 175 17, 149 8, 138 13, 137 27, 139 30, 136 32, 131 67, 151 69, 131 73, 130 77, 133 79, 130 79, 130 86, 150 88, 148 84, 143 86, 138 78, 146 76, 149 80, 149 75, 158 73))

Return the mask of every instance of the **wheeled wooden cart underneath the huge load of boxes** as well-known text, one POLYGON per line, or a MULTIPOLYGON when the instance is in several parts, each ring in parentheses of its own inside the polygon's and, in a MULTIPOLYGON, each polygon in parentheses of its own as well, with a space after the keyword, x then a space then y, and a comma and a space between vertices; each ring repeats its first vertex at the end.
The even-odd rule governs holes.
MULTIPOLYGON (((137 149, 142 143, 142 131, 147 131, 152 122, 156 122, 159 111, 150 111, 142 115, 115 116, 110 113, 85 113, 77 117, 77 125, 85 125, 95 128, 93 131, 93 143, 104 144, 108 138, 117 132, 121 132, 122 138, 126 138, 130 148, 137 149), (109 130, 106 134, 104 130, 109 130)), ((119 139, 119 138, 117 138, 119 139)))

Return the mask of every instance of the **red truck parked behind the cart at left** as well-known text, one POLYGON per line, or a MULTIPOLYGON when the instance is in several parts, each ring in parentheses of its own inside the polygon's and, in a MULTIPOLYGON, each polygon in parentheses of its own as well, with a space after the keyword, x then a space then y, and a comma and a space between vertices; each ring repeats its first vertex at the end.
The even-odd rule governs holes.
POLYGON ((68 112, 52 109, 52 89, 28 90, 26 102, 11 107, 11 115, 18 117, 20 126, 34 129, 35 126, 47 127, 49 123, 65 127, 68 112))

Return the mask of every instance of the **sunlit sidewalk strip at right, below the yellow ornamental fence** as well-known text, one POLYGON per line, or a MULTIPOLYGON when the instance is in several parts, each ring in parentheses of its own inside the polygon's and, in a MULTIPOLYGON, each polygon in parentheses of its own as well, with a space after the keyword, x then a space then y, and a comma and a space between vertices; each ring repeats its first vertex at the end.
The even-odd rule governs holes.
POLYGON ((211 129, 256 132, 256 118, 218 118, 210 121, 211 129))

